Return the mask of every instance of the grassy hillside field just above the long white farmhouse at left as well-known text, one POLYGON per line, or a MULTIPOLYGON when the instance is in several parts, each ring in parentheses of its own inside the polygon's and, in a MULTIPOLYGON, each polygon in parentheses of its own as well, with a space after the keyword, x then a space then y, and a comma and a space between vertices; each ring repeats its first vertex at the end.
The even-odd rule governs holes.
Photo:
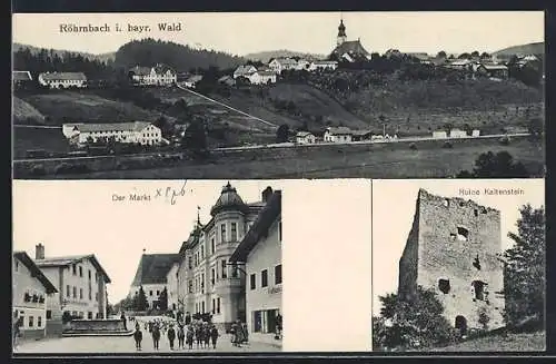
POLYGON ((90 91, 49 91, 23 97, 43 116, 46 124, 63 122, 122 122, 156 120, 160 112, 97 96, 90 91))

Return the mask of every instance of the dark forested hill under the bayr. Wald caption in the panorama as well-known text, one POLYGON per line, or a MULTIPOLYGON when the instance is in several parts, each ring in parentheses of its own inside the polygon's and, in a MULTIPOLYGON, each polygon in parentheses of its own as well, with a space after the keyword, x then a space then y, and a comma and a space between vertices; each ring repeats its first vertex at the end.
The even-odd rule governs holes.
POLYGON ((210 66, 219 69, 236 68, 245 60, 215 50, 197 50, 189 46, 147 38, 121 46, 116 52, 115 63, 123 67, 155 66, 165 63, 177 71, 189 71, 210 66))

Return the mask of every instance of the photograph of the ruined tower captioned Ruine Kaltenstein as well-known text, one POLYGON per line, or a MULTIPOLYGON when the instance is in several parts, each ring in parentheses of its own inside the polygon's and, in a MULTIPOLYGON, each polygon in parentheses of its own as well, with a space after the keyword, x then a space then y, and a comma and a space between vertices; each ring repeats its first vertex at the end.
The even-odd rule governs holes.
POLYGON ((543 352, 544 179, 373 180, 373 351, 543 352))

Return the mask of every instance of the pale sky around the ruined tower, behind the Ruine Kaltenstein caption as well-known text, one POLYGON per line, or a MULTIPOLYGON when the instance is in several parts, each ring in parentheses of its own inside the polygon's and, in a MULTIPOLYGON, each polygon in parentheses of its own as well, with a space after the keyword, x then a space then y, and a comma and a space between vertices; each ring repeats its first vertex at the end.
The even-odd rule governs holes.
POLYGON ((398 263, 404 252, 407 236, 415 216, 415 204, 419 188, 443 197, 463 197, 479 205, 500 210, 503 248, 512 246, 508 232, 517 232, 515 226, 520 214, 518 208, 527 203, 533 207, 545 204, 543 179, 405 179, 373 181, 373 311, 378 313, 378 296, 396 293, 398 289, 398 263), (460 196, 459 188, 523 188, 519 196, 460 196))

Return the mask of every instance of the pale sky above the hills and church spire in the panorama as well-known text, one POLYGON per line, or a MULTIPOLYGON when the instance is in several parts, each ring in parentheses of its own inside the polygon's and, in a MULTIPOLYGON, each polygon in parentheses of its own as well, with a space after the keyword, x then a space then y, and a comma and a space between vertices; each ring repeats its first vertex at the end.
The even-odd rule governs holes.
POLYGON ((16 13, 12 37, 19 43, 92 53, 151 37, 239 56, 278 49, 328 55, 341 17, 348 40, 360 38, 369 52, 493 52, 545 39, 543 11, 16 13), (160 22, 181 23, 181 30, 159 31, 160 22), (106 23, 110 31, 60 32, 60 24, 89 23, 106 23), (116 31, 117 23, 122 31, 116 31), (128 24, 151 31, 128 32, 128 24))

